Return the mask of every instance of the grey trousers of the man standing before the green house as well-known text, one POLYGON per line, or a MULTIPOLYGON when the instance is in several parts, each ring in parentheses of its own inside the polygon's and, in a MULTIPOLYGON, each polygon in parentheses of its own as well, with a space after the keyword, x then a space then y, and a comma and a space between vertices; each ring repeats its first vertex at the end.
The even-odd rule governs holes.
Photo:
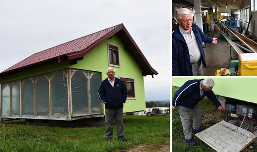
POLYGON ((105 109, 105 138, 111 139, 113 136, 114 120, 117 123, 118 137, 124 135, 123 107, 118 109, 105 109))

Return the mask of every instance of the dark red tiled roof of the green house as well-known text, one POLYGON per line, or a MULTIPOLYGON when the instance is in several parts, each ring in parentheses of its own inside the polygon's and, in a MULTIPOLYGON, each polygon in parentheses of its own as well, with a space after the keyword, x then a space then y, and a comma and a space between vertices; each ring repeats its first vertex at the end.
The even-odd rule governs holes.
POLYGON ((25 58, 24 60, 4 70, 3 72, 0 73, 0 75, 12 73, 16 70, 32 67, 51 60, 58 60, 62 56, 67 56, 69 60, 82 57, 87 52, 93 50, 100 43, 109 39, 117 32, 121 33, 120 34, 121 38, 124 41, 126 41, 126 43, 127 41, 130 42, 129 47, 131 47, 131 44, 133 45, 132 46, 133 50, 135 50, 136 52, 131 52, 131 54, 133 55, 134 53, 134 58, 136 58, 135 60, 137 61, 138 64, 141 64, 141 63, 143 64, 141 66, 139 65, 143 69, 143 72, 144 72, 143 75, 153 75, 153 74, 157 75, 158 72, 155 71, 150 66, 150 64, 148 63, 148 61, 146 60, 142 52, 139 50, 135 42, 132 40, 131 36, 129 35, 127 29, 123 24, 119 24, 119 25, 104 29, 102 31, 72 40, 70 42, 66 42, 64 44, 55 46, 53 48, 34 53, 33 55, 25 58), (121 30, 123 31, 120 32, 121 30), (140 56, 139 58, 138 58, 138 55, 140 56), (143 62, 139 60, 143 60, 143 62), (144 71, 144 69, 146 68, 147 70, 144 71))

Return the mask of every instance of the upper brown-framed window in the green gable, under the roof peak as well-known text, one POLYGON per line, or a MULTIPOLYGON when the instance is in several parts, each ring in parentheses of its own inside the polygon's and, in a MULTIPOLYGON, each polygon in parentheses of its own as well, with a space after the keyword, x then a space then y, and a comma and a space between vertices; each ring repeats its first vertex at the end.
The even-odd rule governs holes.
POLYGON ((114 66, 119 66, 119 48, 113 45, 108 45, 108 56, 109 56, 109 64, 114 66))

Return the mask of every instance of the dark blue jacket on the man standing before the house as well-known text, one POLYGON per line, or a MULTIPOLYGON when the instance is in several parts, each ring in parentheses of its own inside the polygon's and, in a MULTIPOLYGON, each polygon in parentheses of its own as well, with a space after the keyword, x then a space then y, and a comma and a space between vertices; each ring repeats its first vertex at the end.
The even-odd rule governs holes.
POLYGON ((105 103, 105 108, 116 109, 123 107, 128 94, 127 88, 121 79, 115 78, 114 87, 108 81, 108 78, 101 82, 98 95, 100 100, 105 103))

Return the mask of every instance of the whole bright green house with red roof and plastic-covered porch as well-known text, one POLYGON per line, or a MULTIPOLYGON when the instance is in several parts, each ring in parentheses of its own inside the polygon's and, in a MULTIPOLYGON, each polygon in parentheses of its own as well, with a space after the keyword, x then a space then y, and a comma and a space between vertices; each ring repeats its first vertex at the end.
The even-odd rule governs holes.
POLYGON ((144 110, 143 76, 158 73, 119 24, 34 53, 1 72, 0 117, 103 117, 98 88, 110 66, 128 89, 124 112, 144 110))

